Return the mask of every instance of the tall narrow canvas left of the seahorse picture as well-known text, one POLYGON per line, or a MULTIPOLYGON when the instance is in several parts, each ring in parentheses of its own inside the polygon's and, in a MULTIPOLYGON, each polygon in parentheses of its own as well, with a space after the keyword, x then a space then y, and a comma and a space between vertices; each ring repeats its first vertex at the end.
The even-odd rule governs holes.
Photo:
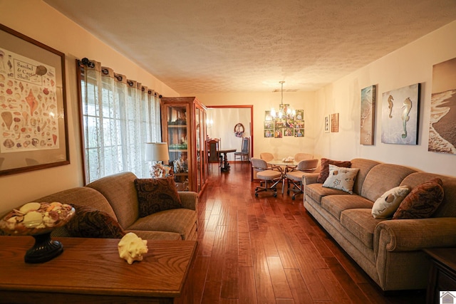
POLYGON ((375 85, 361 90, 360 144, 373 145, 375 127, 375 85))

